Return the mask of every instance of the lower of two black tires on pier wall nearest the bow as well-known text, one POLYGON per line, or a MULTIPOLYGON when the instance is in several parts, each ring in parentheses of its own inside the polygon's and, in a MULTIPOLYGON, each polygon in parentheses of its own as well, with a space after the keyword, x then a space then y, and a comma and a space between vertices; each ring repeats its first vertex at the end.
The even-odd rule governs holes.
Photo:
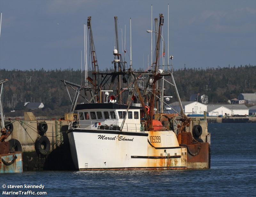
POLYGON ((50 140, 46 136, 39 136, 35 142, 35 149, 38 156, 45 157, 50 152, 50 140))

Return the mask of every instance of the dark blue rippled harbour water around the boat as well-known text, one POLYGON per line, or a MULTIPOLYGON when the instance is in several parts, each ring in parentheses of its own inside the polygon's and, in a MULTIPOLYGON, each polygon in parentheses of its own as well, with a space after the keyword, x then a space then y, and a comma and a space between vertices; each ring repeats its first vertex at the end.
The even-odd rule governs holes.
POLYGON ((209 123, 208 130, 209 170, 0 174, 0 195, 3 184, 43 184, 31 190, 47 196, 256 196, 256 123, 209 123))

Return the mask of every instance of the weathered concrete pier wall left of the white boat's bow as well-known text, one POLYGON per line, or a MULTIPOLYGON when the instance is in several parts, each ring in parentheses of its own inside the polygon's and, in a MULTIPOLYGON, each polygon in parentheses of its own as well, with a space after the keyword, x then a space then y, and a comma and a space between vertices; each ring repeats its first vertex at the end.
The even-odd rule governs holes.
POLYGON ((35 151, 35 142, 40 135, 37 125, 44 120, 14 120, 13 132, 7 138, 16 139, 22 146, 23 171, 40 170, 74 170, 71 158, 68 135, 69 121, 45 120, 48 129, 45 136, 48 137, 51 147, 47 157, 40 157, 35 151))

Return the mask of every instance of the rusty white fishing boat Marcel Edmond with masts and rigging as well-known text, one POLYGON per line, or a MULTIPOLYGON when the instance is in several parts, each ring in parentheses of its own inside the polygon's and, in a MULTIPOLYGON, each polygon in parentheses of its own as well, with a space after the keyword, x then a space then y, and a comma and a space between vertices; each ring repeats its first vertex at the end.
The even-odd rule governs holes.
POLYGON ((155 21, 158 31, 155 31, 156 52, 151 69, 133 71, 132 60, 130 66, 125 61, 126 51, 123 61, 119 53, 115 17, 114 69, 110 73, 100 73, 91 17, 88 17, 92 78, 86 76, 85 70, 84 85, 62 80, 65 86, 71 86, 76 91, 70 113, 76 111, 77 119, 70 122, 67 133, 77 170, 210 168, 207 121, 192 120, 186 116, 169 61, 165 68, 160 69, 158 60, 163 14, 159 15, 159 23, 157 19, 155 21), (171 82, 164 77, 170 78, 171 82), (164 82, 174 87, 180 112, 164 113, 165 106, 168 106, 164 102, 164 82), (84 98, 84 103, 77 104, 79 95, 84 98))

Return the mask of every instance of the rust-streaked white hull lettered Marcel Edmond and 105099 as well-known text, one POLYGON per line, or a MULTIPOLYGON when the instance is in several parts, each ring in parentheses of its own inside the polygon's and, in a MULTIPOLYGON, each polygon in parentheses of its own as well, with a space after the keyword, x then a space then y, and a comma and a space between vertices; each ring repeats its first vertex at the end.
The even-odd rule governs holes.
POLYGON ((173 132, 159 131, 156 134, 154 131, 152 134, 161 136, 162 142, 150 143, 151 133, 68 131, 72 159, 78 170, 186 169, 187 149, 177 146, 176 136, 172 146, 162 146, 168 144, 165 134, 172 136, 173 132))

